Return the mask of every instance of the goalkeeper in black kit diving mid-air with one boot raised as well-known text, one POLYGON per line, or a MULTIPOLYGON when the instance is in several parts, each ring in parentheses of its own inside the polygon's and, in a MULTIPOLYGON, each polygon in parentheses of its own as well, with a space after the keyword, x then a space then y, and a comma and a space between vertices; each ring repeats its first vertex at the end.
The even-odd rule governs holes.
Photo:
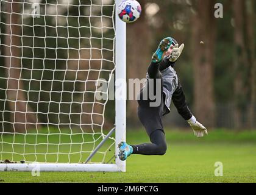
POLYGON ((165 154, 167 146, 162 118, 170 112, 171 100, 179 114, 190 124, 196 137, 207 135, 207 129, 196 120, 188 108, 182 86, 174 71, 174 65, 183 48, 184 44, 179 47, 174 38, 168 37, 160 42, 157 51, 153 54, 152 62, 148 67, 146 85, 141 89, 138 97, 138 118, 145 127, 151 143, 129 145, 121 142, 118 146, 120 160, 126 160, 131 154, 165 154), (160 104, 153 106, 152 103, 157 102, 157 90, 161 90, 158 94, 160 104), (150 91, 156 94, 153 100, 149 99, 150 91), (143 98, 145 94, 147 99, 143 98))

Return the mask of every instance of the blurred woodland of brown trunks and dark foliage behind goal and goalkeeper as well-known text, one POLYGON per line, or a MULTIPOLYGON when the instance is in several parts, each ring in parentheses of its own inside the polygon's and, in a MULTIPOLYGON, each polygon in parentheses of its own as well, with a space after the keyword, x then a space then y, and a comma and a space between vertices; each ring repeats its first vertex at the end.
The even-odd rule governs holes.
MULTIPOLYGON (((18 0, 15 0, 18 1, 18 0)), ((71 1, 71 0, 69 0, 71 1)), ((101 5, 102 2, 111 2, 111 0, 81 0, 81 4, 89 5, 91 2, 101 5)), ((32 0, 29 2, 33 2, 32 0)), ((41 2, 46 2, 42 0, 41 2)), ((48 0, 47 2, 50 2, 48 0)), ((56 0, 51 0, 54 4, 56 0)), ((73 4, 78 5, 79 1, 72 1, 73 4)), ((142 79, 146 76, 146 70, 151 60, 152 52, 155 51, 158 43, 164 37, 174 37, 179 43, 185 43, 185 49, 179 62, 177 62, 176 71, 179 75, 180 82, 183 85, 188 104, 191 110, 199 121, 201 121, 207 127, 228 127, 228 128, 255 128, 256 116, 255 116, 255 101, 256 101, 256 60, 255 60, 255 28, 256 28, 256 2, 254 0, 140 0, 142 5, 143 14, 141 18, 133 24, 127 24, 127 77, 142 79), (215 18, 214 12, 215 3, 221 3, 224 6, 224 17, 215 18)), ((6 2, 5 2, 6 4, 6 2)), ((1 2, 1 5, 3 3, 1 2)), ((15 5, 15 4, 13 4, 15 5)), ((84 7, 69 7, 62 10, 63 15, 77 16, 85 15, 89 16, 91 13, 101 13, 97 7, 93 9, 86 9, 84 7)), ((2 6, 1 10, 8 11, 8 7, 2 6)), ((18 9, 13 7, 13 9, 18 9)), ((49 10, 50 12, 51 10, 49 10)), ((17 10, 18 12, 18 10, 17 10)), ((104 10, 105 15, 112 15, 111 9, 104 10)), ((12 15, 12 23, 19 23, 18 15, 12 15)), ((9 24, 10 17, 6 13, 1 12, 1 22, 9 24)), ((107 25, 108 21, 94 21, 86 18, 80 18, 77 21, 76 18, 68 18, 66 21, 59 18, 55 21, 52 17, 41 18, 26 18, 26 24, 39 26, 24 27, 24 34, 37 35, 33 40, 32 38, 24 37, 23 44, 25 46, 38 46, 46 49, 23 49, 22 55, 27 56, 21 62, 18 62, 18 58, 8 59, 2 54, 9 55, 10 49, 6 49, 1 44, 1 56, 0 56, 0 121, 6 121, 7 118, 12 121, 15 116, 5 116, 6 113, 2 113, 2 110, 7 109, 5 105, 5 99, 12 99, 12 96, 18 96, 21 101, 17 102, 16 110, 20 110, 20 114, 15 113, 16 116, 21 115, 24 111, 24 104, 27 104, 27 97, 30 101, 41 101, 39 104, 28 103, 27 108, 34 110, 34 112, 40 112, 37 118, 38 121, 43 123, 52 122, 57 123, 62 121, 65 124, 70 122, 76 123, 80 118, 77 115, 67 116, 69 113, 90 113, 92 109, 101 111, 101 107, 90 107, 88 104, 83 104, 86 98, 90 97, 90 94, 83 94, 85 90, 94 90, 93 83, 83 82, 56 82, 55 85, 51 83, 43 82, 37 83, 34 80, 29 82, 29 79, 37 80, 75 80, 80 81, 88 79, 90 72, 91 79, 98 77, 106 77, 105 75, 99 75, 99 68, 101 62, 99 60, 86 60, 101 59, 102 53, 98 51, 88 52, 87 49, 77 52, 76 49, 79 46, 83 48, 90 48, 91 46, 99 46, 101 42, 99 40, 90 41, 81 39, 77 41, 76 37, 79 34, 83 37, 101 37, 103 32, 97 31, 97 29, 88 30, 87 28, 79 27, 89 26, 89 24, 95 24, 98 27, 107 25), (57 24, 58 22, 58 24, 57 24), (104 24, 103 24, 104 22, 104 24), (59 24, 60 23, 60 24, 59 24), (48 24, 46 28, 41 27, 48 24), (59 26, 58 26, 59 25, 59 26), (61 27, 64 26, 64 27, 61 27), (74 38, 44 38, 52 35, 68 37, 72 34, 74 38), (65 51, 55 48, 70 48, 65 51), (37 56, 37 59, 31 59, 33 55, 37 56), (48 60, 40 60, 47 56, 48 60), (66 59, 69 56, 71 59, 67 62, 66 59), (79 58, 85 60, 79 60, 79 58), (58 59, 58 60, 55 60, 58 59), (34 60, 34 61, 33 61, 34 60), (78 61, 78 62, 77 62, 78 61), (9 63, 11 62, 11 63, 9 63), (54 62, 54 66, 52 66, 54 62), (34 67, 30 67, 34 64, 34 67), (13 69, 13 72, 7 73, 5 67, 9 66, 22 66, 23 69, 20 72, 18 69, 13 69), (96 67, 94 72, 89 71, 90 67, 96 67), (29 71, 31 69, 31 71, 29 71), (65 70, 73 70, 74 74, 65 74, 65 70), (76 73, 78 71, 78 73, 76 73), (13 78, 24 79, 24 83, 17 79, 9 80, 8 83, 4 77, 13 74, 13 78), (17 85, 19 88, 17 88, 17 85), (30 89, 28 87, 31 87, 30 89), (31 93, 21 93, 21 89, 30 90, 31 93), (33 92, 38 88, 47 90, 54 90, 56 93, 49 96, 47 93, 41 92, 40 94, 33 92), (5 97, 5 90, 7 89, 7 97, 5 97), (13 95, 13 90, 15 91, 13 95), (64 96, 59 96, 58 91, 77 91, 74 96, 69 96, 66 93, 64 96), (18 94, 16 94, 18 93, 18 94), (40 96, 40 97, 39 97, 40 96), (39 97, 39 98, 38 98, 39 97), (58 104, 51 103, 46 104, 50 100, 69 102, 71 99, 76 99, 77 102, 82 102, 82 105, 68 105, 65 104, 62 108, 58 104), (49 108, 51 108, 49 110, 49 108), (54 115, 45 115, 47 112, 62 112, 63 115, 58 118, 54 115)), ((12 45, 20 44, 21 42, 16 36, 8 36, 10 34, 10 28, 6 28, 7 25, 1 23, 1 43, 10 45, 10 39, 12 39, 12 45), (5 32, 5 34, 3 34, 5 32)), ((21 34, 18 32, 20 29, 13 26, 12 34, 21 34)), ((105 30, 104 36, 113 38, 111 30, 105 30)), ((104 47, 112 49, 112 41, 104 41, 104 47)), ((19 54, 18 47, 12 48, 12 54, 15 56, 21 56, 19 54)), ((111 60, 112 55, 107 52, 104 53, 104 58, 111 60)), ((105 69, 111 69, 112 64, 104 64, 105 69)), ((69 73, 72 73, 70 71, 69 73)), ((107 78, 107 77, 106 77, 107 78)), ((91 97, 93 98, 93 97, 91 97)), ((105 110, 106 120, 105 122, 113 124, 114 122, 114 109, 113 102, 107 104, 105 110)), ((13 105, 10 102, 9 110, 13 110, 13 105)), ((29 111, 27 110, 27 111, 29 111)), ((183 126, 185 122, 177 114, 176 109, 172 107, 170 115, 166 116, 166 124, 170 126, 183 126)), ((21 121, 31 121, 34 123, 35 116, 26 115, 18 116, 21 121)), ((83 121, 88 123, 92 121, 102 121, 100 116, 87 116, 83 114, 81 116, 83 121)), ((127 125, 131 124, 140 125, 137 119, 137 102, 127 101, 127 125)), ((19 127, 21 131, 24 129, 19 127)))

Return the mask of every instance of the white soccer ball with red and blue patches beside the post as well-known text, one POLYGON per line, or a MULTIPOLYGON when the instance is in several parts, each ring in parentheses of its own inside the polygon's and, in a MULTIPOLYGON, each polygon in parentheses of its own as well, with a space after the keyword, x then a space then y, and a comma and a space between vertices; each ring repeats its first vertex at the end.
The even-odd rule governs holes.
POLYGON ((141 6, 136 0, 123 0, 118 5, 117 12, 121 20, 126 23, 133 23, 140 18, 141 6))

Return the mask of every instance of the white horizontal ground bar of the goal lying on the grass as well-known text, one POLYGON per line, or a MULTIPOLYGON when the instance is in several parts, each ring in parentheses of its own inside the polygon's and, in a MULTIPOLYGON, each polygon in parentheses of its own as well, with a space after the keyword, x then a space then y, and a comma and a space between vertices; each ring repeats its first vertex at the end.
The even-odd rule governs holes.
POLYGON ((115 164, 2 163, 0 164, 0 171, 121 172, 122 169, 115 164))

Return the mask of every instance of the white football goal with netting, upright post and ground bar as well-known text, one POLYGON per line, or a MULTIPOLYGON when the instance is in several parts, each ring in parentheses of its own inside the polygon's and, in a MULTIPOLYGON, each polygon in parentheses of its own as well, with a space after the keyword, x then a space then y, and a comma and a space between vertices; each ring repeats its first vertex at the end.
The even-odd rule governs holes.
POLYGON ((126 79, 118 2, 0 2, 0 171, 125 171, 126 101, 110 98, 126 79))

